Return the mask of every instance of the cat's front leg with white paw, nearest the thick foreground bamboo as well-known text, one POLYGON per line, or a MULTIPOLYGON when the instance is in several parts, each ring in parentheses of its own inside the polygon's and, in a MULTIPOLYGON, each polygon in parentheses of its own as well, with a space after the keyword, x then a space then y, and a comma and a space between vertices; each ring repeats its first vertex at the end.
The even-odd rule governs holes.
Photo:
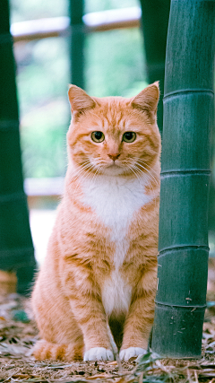
POLYGON ((154 318, 156 271, 144 274, 125 320, 123 344, 119 353, 122 361, 147 353, 154 318))

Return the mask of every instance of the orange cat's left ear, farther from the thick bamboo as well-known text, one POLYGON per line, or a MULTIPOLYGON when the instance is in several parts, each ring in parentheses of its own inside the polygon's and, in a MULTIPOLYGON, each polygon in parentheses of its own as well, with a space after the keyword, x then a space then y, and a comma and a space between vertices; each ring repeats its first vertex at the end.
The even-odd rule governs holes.
POLYGON ((72 112, 82 113, 86 109, 91 109, 96 106, 96 102, 91 97, 76 85, 69 85, 69 100, 72 112))

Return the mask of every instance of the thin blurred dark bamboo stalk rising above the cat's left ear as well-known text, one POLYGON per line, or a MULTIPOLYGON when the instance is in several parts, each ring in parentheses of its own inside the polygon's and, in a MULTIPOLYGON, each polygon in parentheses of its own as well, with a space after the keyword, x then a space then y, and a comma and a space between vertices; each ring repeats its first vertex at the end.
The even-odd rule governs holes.
POLYGON ((84 89, 84 24, 83 0, 70 0, 71 83, 84 89))

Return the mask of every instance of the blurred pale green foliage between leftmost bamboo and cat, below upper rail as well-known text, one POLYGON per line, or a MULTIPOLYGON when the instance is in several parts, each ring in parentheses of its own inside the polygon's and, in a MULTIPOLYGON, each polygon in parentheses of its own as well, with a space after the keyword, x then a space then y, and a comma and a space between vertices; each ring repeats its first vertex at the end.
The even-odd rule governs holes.
POLYGON ((66 164, 70 110, 67 43, 63 38, 15 45, 25 177, 60 177, 66 164))

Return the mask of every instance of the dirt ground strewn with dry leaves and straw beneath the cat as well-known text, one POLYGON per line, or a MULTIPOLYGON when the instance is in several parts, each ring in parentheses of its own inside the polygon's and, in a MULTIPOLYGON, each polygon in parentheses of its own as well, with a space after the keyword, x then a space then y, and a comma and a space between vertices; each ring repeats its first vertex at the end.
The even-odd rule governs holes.
POLYGON ((129 362, 35 361, 38 330, 30 321, 29 301, 18 294, 0 296, 0 382, 215 383, 215 260, 210 261, 208 309, 201 360, 164 360, 148 353, 129 362))

